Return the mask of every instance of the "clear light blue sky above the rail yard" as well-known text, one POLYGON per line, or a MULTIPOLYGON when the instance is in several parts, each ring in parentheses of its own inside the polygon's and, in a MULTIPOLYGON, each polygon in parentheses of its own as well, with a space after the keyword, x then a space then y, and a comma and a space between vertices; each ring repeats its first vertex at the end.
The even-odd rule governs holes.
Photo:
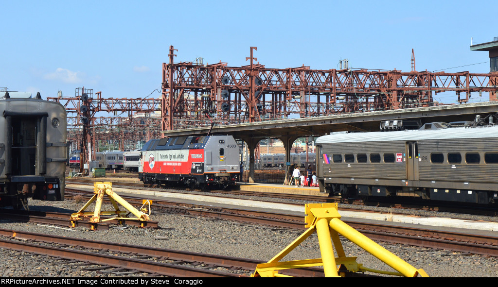
POLYGON ((0 0, 0 87, 44 98, 75 96, 79 87, 145 97, 161 86, 170 45, 175 62, 203 57, 237 67, 256 46, 268 68, 334 69, 347 58, 350 67, 403 72, 413 48, 417 71, 489 73, 488 53, 469 46, 471 37, 476 44, 498 36, 497 3, 0 0))

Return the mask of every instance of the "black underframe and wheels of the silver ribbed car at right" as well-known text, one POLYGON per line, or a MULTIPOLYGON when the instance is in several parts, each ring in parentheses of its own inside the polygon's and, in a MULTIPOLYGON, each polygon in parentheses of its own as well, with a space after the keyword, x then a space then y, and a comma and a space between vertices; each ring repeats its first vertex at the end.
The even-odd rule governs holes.
POLYGON ((469 189, 423 188, 381 185, 353 185, 325 183, 318 181, 320 191, 329 193, 330 196, 342 198, 365 199, 370 196, 393 197, 402 196, 409 198, 431 199, 441 201, 455 201, 479 204, 498 203, 498 191, 483 191, 469 189))

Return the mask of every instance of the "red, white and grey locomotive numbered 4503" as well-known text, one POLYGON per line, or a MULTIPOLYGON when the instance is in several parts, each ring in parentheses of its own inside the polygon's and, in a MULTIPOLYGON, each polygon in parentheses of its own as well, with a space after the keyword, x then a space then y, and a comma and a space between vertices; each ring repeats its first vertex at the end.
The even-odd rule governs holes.
POLYGON ((180 182, 191 189, 235 184, 239 146, 226 135, 153 139, 142 147, 138 177, 145 184, 180 182))

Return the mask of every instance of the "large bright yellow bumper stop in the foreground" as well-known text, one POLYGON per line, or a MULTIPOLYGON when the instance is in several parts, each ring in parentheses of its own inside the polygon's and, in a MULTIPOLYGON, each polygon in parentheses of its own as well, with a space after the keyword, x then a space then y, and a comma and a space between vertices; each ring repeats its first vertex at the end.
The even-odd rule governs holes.
POLYGON ((258 264, 251 277, 287 277, 279 271, 294 268, 323 266, 325 277, 345 277, 346 273, 372 272, 393 276, 429 277, 422 269, 416 269, 382 246, 373 242, 340 218, 337 203, 305 204, 305 227, 308 229, 267 263, 258 264), (322 258, 280 262, 294 248, 316 231, 322 258), (346 257, 339 235, 363 248, 396 272, 366 268, 357 263, 357 257, 346 257), (334 256, 334 247, 337 257, 334 256))

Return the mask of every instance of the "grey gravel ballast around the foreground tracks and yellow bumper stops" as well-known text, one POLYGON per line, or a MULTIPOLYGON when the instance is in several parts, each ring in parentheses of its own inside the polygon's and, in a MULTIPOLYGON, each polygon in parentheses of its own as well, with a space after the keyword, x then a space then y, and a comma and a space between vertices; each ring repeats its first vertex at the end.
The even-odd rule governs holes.
MULTIPOLYGON (((73 200, 49 202, 30 199, 29 204, 31 210, 70 213, 78 211, 84 203, 77 204, 73 200)), ((133 226, 125 228, 116 226, 105 231, 90 231, 83 227, 66 230, 36 223, 11 222, 5 219, 0 220, 0 228, 263 261, 271 259, 302 233, 300 230, 160 212, 153 212, 151 220, 158 221, 161 228, 143 229, 133 226)), ((390 267, 355 244, 344 238, 341 240, 346 255, 357 256, 358 263, 368 268, 392 271, 390 267)), ((497 258, 401 244, 381 242, 380 245, 415 268, 423 269, 431 277, 498 277, 497 258)), ((25 254, 0 249, 1 277, 148 276, 143 273, 129 274, 129 272, 123 271, 114 273, 86 271, 85 269, 92 267, 92 265, 82 266, 81 263, 54 260, 46 256, 21 255, 25 254)), ((284 260, 320 257, 317 235, 313 234, 287 255, 284 260)), ((242 273, 242 275, 249 275, 249 272, 242 273)))

